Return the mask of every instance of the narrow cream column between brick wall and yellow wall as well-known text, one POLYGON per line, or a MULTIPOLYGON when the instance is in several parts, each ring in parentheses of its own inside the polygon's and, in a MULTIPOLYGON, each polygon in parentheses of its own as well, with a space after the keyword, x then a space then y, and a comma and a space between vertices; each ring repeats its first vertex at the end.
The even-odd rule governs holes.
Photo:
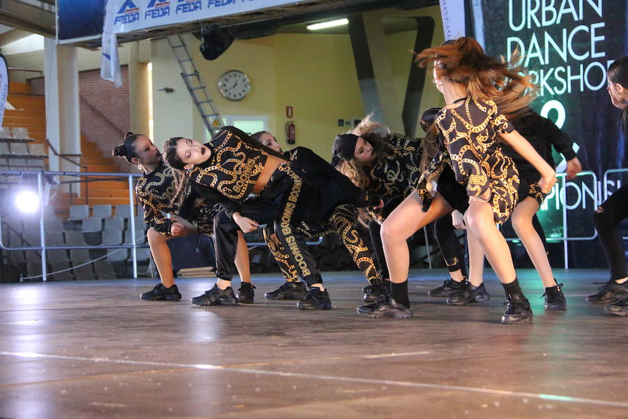
POLYGON ((130 131, 149 135, 149 72, 146 57, 142 57, 140 42, 130 42, 128 47, 128 100, 130 131))

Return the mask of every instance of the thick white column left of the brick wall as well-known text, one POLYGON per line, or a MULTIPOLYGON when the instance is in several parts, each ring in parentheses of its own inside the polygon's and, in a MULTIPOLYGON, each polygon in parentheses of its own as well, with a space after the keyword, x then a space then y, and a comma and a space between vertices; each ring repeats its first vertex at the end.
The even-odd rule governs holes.
MULTIPOLYGON (((44 41, 46 136, 59 154, 81 153, 77 47, 44 41)), ((78 162, 78 158, 71 158, 78 162)), ((50 170, 79 172, 80 167, 50 156, 50 170)))

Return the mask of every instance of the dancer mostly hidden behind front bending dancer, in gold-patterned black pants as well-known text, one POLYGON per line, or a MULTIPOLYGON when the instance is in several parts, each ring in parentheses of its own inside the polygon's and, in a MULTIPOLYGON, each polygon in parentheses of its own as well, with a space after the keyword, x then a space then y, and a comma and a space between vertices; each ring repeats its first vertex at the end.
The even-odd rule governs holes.
MULTIPOLYGON (((314 155, 310 150, 304 149, 304 147, 297 147, 283 152, 277 139, 268 131, 254 133, 251 135, 251 138, 270 149, 274 149, 276 152, 282 153, 292 163, 300 165, 306 172, 315 170, 315 168, 307 167, 312 164, 307 160, 312 159, 314 155), (304 156, 306 157, 306 161, 304 161, 304 156)), ((318 156, 315 156, 314 159, 314 163, 320 163, 318 156)), ((327 166, 327 163, 325 163, 324 166, 327 166)), ((349 251, 358 269, 364 273, 369 283, 369 285, 365 287, 368 289, 368 292, 364 296, 364 300, 371 302, 372 300, 377 300, 384 286, 382 285, 382 278, 375 268, 375 263, 373 263, 373 258, 371 258, 371 249, 364 243, 359 231, 355 228, 358 217, 359 213, 357 208, 354 205, 345 204, 336 208, 331 218, 324 221, 324 223, 314 224, 302 221, 297 227, 297 230, 299 230, 299 233, 305 238, 320 237, 336 233, 347 251, 349 251)), ((277 235, 274 234, 272 226, 267 225, 263 231, 264 240, 279 264, 283 277, 285 277, 285 283, 283 285, 274 291, 265 293, 264 296, 269 300, 301 300, 306 294, 306 288, 303 283, 299 281, 297 268, 294 266, 294 263, 291 262, 287 251, 281 246, 277 235)))

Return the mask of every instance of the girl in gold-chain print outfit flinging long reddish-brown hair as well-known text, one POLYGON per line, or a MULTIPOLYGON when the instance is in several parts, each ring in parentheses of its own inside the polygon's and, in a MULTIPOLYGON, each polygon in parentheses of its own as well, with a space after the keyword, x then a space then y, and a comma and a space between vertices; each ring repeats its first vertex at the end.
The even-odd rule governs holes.
POLYGON ((484 251, 504 286, 507 309, 502 323, 530 322, 530 303, 519 287, 508 245, 495 223, 506 221, 518 198, 517 170, 512 160, 502 154, 499 139, 537 168, 541 173, 541 191, 547 193, 556 182, 551 166, 512 128, 504 115, 532 100, 533 94, 522 92, 533 85, 518 71, 511 71, 506 64, 484 54, 472 38, 458 38, 428 48, 419 54, 418 60, 422 66, 434 61, 434 81, 447 103, 435 121, 439 149, 421 175, 417 191, 382 224, 391 297, 378 307, 366 309, 363 315, 412 316, 408 300, 409 251, 405 240, 419 228, 451 212, 447 200, 433 190, 433 182, 444 166, 449 165, 469 196, 465 222, 470 252, 484 251))

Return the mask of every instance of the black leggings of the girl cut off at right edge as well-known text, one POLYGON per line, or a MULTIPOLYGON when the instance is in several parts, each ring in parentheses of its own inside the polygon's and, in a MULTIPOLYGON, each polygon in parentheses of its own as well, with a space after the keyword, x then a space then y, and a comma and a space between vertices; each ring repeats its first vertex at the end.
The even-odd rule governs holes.
POLYGON ((611 281, 628 277, 624 240, 619 229, 619 223, 628 217, 628 184, 609 196, 600 209, 603 211, 593 213, 593 224, 608 265, 611 265, 611 281))

